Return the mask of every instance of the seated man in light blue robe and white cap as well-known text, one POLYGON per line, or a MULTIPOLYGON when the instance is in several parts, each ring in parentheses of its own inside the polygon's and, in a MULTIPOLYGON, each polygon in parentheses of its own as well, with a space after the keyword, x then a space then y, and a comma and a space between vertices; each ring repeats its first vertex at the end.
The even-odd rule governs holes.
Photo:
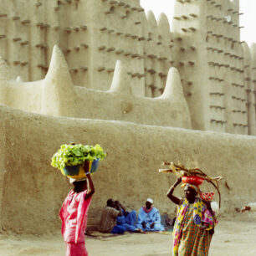
POLYGON ((148 198, 146 206, 141 207, 136 227, 143 231, 163 231, 165 228, 161 225, 160 213, 152 204, 153 200, 148 198))

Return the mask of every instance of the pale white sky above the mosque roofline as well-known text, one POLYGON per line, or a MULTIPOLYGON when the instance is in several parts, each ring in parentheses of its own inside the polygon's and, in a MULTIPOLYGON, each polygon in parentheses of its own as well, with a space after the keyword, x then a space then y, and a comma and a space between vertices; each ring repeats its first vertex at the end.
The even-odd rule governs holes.
MULTIPOLYGON (((156 19, 160 13, 166 13, 171 20, 173 7, 176 0, 141 0, 141 7, 146 11, 151 10, 156 19)), ((247 41, 248 44, 256 43, 256 0, 240 0, 241 40, 247 41)), ((171 25, 171 24, 170 24, 171 25)))

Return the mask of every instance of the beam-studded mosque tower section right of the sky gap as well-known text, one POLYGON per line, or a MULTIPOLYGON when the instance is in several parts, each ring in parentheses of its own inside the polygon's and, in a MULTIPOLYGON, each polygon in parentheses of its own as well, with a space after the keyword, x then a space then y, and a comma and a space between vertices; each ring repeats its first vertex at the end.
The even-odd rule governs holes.
POLYGON ((174 53, 193 129, 255 135, 253 49, 240 41, 242 14, 238 0, 175 3, 174 53))

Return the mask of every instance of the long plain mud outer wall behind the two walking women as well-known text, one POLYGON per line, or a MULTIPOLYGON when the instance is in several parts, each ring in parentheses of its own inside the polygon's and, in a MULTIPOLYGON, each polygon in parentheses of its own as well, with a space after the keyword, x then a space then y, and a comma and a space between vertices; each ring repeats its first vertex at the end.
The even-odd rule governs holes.
MULTIPOLYGON (((0 149, 4 146, 5 152, 0 154, 0 223, 8 232, 59 232, 59 207, 70 187, 50 166, 50 158, 69 141, 100 143, 108 153, 93 177, 96 192, 90 223, 99 222, 109 197, 136 210, 152 197, 160 212, 172 213, 174 206, 166 191, 175 177, 158 173, 164 160, 199 166, 212 177, 225 177, 220 184, 222 212, 233 212, 234 207, 255 199, 256 140, 252 136, 37 115, 4 105, 0 106, 0 120, 0 149)), ((182 190, 177 189, 177 194, 182 190)))

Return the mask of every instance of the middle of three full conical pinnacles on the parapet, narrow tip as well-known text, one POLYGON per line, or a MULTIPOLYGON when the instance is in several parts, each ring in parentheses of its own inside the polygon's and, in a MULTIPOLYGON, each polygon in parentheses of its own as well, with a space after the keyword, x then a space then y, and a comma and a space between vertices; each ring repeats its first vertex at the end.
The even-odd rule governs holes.
POLYGON ((125 69, 124 64, 120 60, 117 60, 115 64, 115 72, 112 79, 112 84, 109 91, 111 93, 132 95, 130 81, 131 79, 127 74, 127 70, 125 69))

